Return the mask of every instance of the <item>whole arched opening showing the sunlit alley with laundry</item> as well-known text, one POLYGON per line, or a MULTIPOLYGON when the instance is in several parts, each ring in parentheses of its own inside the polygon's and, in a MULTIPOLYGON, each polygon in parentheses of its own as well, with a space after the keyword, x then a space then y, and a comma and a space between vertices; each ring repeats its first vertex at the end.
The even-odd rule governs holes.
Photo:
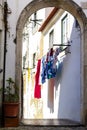
POLYGON ((63 9, 43 8, 28 18, 22 43, 23 119, 81 122, 80 35, 77 20, 63 9))

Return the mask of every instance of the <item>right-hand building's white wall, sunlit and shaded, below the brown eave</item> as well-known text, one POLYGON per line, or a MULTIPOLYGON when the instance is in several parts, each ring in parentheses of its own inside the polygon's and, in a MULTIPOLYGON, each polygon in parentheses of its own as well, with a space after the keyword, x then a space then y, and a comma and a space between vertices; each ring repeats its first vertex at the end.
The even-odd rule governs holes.
MULTIPOLYGON (((65 12, 55 25, 49 22, 50 26, 44 35, 44 53, 48 52, 49 48, 49 33, 54 29, 54 44, 61 43, 61 19, 66 16, 65 12)), ((75 19, 72 15, 68 14, 68 38, 72 41, 70 46, 71 54, 67 54, 63 58, 63 68, 61 73, 57 73, 54 87, 54 111, 51 113, 46 102, 46 94, 48 94, 48 81, 43 85, 44 98, 44 117, 45 118, 58 118, 58 119, 71 119, 81 121, 81 39, 80 29, 75 27, 75 19), (48 114, 46 113, 48 111, 48 114), (72 114, 73 113, 73 114, 72 114)), ((43 31, 44 33, 44 31, 43 31)))

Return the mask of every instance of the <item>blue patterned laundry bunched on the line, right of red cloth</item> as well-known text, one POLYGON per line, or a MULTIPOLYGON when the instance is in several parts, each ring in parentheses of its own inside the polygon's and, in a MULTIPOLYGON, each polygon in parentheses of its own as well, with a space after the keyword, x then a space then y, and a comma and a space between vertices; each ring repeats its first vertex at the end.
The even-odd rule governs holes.
POLYGON ((60 63, 58 61, 58 55, 60 52, 60 48, 56 48, 55 50, 51 48, 49 52, 47 52, 47 55, 42 57, 42 84, 45 83, 46 79, 55 78, 60 63))

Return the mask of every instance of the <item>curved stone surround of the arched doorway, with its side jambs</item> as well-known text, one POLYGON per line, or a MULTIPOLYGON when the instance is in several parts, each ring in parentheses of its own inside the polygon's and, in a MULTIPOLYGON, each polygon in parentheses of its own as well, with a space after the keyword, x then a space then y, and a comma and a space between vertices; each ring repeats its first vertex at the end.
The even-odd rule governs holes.
MULTIPOLYGON (((22 93, 21 91, 21 68, 22 68, 22 31, 23 31, 23 27, 24 24, 26 22, 26 20, 28 19, 28 17, 34 13, 35 11, 44 8, 44 7, 59 7, 59 8, 63 8, 64 10, 67 10, 68 12, 70 12, 74 17, 76 17, 76 19, 78 20, 79 24, 80 24, 80 28, 81 28, 81 33, 83 33, 84 30, 84 22, 85 22, 85 15, 84 13, 81 11, 80 7, 78 5, 76 5, 73 1, 66 1, 67 4, 65 3, 64 0, 60 1, 53 1, 51 0, 50 2, 48 1, 33 1, 31 2, 21 13, 18 24, 17 24, 17 50, 16 50, 16 54, 17 54, 17 59, 16 59, 16 82, 18 84, 18 86, 20 86, 20 94, 22 93), (65 3, 65 4, 64 4, 65 3)), ((82 39, 82 56, 83 56, 83 52, 84 52, 84 44, 86 41, 84 41, 84 37, 85 34, 83 33, 81 39, 82 39)), ((85 53, 86 54, 86 53, 85 53)), ((82 57, 82 61, 83 61, 84 57, 82 57)), ((82 62, 81 61, 81 62, 82 62)), ((81 76, 82 76, 82 91, 81 91, 81 121, 84 122, 85 117, 84 117, 84 101, 83 101, 83 97, 84 97, 84 93, 83 90, 85 88, 85 80, 83 77, 83 73, 84 73, 84 63, 82 63, 82 67, 81 67, 81 76)), ((21 101, 21 97, 20 97, 20 101, 21 101)), ((20 112, 21 112, 21 107, 20 107, 20 112)))

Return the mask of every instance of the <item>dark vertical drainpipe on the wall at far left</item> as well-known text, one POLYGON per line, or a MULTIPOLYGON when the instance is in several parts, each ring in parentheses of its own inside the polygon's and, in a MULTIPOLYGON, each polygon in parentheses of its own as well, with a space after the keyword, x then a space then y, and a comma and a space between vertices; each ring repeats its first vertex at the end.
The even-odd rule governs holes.
MULTIPOLYGON (((7 12, 8 5, 4 2, 4 60, 3 60, 3 92, 2 92, 2 102, 4 102, 4 89, 5 89, 5 69, 6 69, 6 42, 7 42, 7 12)), ((2 125, 4 125, 4 111, 2 104, 2 125)))

